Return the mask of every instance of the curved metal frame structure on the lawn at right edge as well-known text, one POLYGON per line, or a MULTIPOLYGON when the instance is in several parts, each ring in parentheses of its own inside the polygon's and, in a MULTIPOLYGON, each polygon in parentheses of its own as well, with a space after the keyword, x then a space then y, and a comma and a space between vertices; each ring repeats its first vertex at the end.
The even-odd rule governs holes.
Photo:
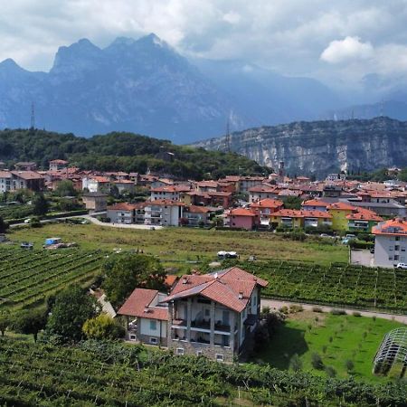
POLYGON ((403 377, 407 368, 407 328, 393 329, 374 356, 374 374, 403 377))

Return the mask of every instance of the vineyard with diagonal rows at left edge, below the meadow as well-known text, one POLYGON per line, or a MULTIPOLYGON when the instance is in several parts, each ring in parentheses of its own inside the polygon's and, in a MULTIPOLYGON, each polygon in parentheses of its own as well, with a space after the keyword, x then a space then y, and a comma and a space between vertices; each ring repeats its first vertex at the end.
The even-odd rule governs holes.
POLYGON ((71 282, 89 280, 100 251, 0 251, 0 308, 21 308, 43 300, 71 282))

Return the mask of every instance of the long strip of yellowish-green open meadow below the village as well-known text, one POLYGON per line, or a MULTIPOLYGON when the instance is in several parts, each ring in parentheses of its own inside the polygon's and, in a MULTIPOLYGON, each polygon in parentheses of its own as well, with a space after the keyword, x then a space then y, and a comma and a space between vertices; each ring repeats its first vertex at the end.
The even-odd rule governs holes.
POLYGON ((319 264, 347 261, 347 248, 317 241, 288 241, 269 232, 230 232, 189 228, 129 230, 94 224, 52 223, 41 229, 21 228, 9 233, 12 241, 33 241, 36 248, 47 237, 76 241, 82 249, 139 249, 157 255, 166 264, 182 260, 214 260, 217 251, 237 251, 243 258, 310 260, 319 264))

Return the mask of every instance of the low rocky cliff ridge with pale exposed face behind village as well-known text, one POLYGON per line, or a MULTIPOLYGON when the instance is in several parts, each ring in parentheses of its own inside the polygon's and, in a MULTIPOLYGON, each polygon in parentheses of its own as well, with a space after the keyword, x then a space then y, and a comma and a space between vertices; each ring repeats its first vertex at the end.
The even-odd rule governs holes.
POLYGON ((392 118, 319 120, 250 128, 229 137, 194 143, 214 151, 232 151, 289 175, 325 177, 407 166, 407 122, 392 118))

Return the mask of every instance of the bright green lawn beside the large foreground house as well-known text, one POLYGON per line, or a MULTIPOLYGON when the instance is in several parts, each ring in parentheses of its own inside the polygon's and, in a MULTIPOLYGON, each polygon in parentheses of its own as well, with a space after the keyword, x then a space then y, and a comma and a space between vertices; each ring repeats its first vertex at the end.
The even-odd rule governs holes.
POLYGON ((352 375, 356 379, 383 383, 389 379, 372 374, 373 359, 383 336, 395 327, 405 326, 386 319, 377 318, 374 321, 369 317, 303 311, 289 316, 270 343, 257 355, 257 359, 286 370, 289 369, 292 355, 298 354, 303 371, 325 375, 323 370, 312 367, 311 355, 317 353, 325 366, 332 366, 336 370, 337 377, 349 376, 345 361, 351 360, 355 364, 352 375), (325 353, 324 346, 327 346, 325 353))

